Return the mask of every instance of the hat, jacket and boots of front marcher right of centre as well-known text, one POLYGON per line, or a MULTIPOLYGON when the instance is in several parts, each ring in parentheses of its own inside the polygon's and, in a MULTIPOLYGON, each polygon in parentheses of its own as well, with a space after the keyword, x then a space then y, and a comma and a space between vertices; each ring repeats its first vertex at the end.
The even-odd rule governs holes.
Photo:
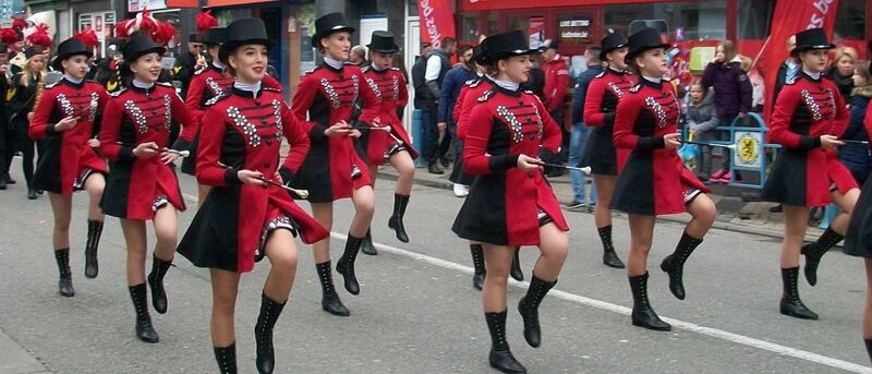
MULTIPOLYGON (((488 63, 533 52, 522 32, 494 35, 485 43, 488 63)), ((465 125, 463 167, 476 178, 451 230, 470 241, 511 246, 540 245, 540 228, 545 225, 568 231, 560 204, 542 172, 517 169, 520 155, 537 155, 540 147, 552 152, 560 147, 560 128, 542 100, 522 92, 517 83, 495 81, 476 104, 465 122, 461 120, 465 125)), ((524 338, 532 347, 541 341, 538 305, 556 282, 534 274, 518 305, 524 338)), ((506 341, 506 310, 485 311, 491 365, 506 373, 525 373, 506 341)))

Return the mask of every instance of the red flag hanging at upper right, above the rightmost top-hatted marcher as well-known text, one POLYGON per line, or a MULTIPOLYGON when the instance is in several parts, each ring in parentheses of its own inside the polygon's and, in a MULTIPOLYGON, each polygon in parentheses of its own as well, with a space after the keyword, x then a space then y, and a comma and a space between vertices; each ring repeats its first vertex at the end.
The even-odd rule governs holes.
POLYGON ((778 67, 790 56, 787 52, 787 39, 803 29, 823 28, 832 40, 833 25, 836 23, 838 0, 778 0, 772 14, 772 31, 766 44, 758 55, 758 64, 762 63, 766 82, 765 110, 768 122, 772 108, 772 95, 778 67), (762 61, 762 62, 761 62, 762 61))

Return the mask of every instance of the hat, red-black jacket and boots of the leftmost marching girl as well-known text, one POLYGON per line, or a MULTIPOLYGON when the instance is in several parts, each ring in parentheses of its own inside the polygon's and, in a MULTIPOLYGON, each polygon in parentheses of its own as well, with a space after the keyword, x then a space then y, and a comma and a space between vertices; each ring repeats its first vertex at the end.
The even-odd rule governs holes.
MULTIPOLYGON (((72 56, 90 57, 90 49, 76 37, 64 40, 58 47, 55 60, 57 70, 62 70, 61 62, 72 56)), ((102 109, 109 98, 99 83, 81 81, 64 75, 61 81, 47 85, 43 92, 31 121, 29 136, 44 142, 44 152, 36 166, 34 186, 51 193, 72 196, 74 191, 85 189, 85 181, 93 173, 104 177, 109 172, 106 160, 87 143, 99 134, 99 121, 102 109), (56 131, 55 125, 62 119, 76 117, 75 128, 56 131)), ((85 276, 97 277, 97 246, 102 233, 102 220, 88 219, 87 242, 85 245, 85 276)), ((69 260, 70 249, 55 249, 66 252, 63 258, 69 260)), ((62 258, 62 260, 63 260, 62 258)), ((61 273, 69 269, 69 263, 58 264, 61 273)), ((62 277, 61 294, 72 295, 72 279, 62 277), (69 287, 69 288, 68 288, 69 287)))

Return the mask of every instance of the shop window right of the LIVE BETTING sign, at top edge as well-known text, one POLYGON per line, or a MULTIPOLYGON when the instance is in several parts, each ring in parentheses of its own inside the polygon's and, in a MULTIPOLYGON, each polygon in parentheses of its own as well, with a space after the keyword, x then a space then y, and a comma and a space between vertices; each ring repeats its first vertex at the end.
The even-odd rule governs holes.
POLYGON ((662 20, 673 39, 723 39, 727 36, 726 1, 685 1, 605 7, 605 34, 628 34, 637 20, 662 20))

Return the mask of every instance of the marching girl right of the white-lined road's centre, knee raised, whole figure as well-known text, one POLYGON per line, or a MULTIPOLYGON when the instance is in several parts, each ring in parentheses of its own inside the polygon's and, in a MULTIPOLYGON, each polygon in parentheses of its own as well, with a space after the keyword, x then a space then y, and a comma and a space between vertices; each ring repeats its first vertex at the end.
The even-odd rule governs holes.
POLYGON ((618 101, 613 136, 616 148, 631 152, 618 177, 611 207, 629 215, 627 274, 633 293, 632 323, 654 330, 671 329, 654 313, 647 298, 647 255, 657 216, 687 212, 693 217, 675 252, 661 263, 669 276, 669 291, 679 300, 685 299, 685 262, 715 219, 708 190, 683 167, 676 152, 681 144, 677 133, 680 108, 675 88, 663 80, 668 47, 653 28, 630 36, 627 60, 639 73, 639 83, 618 101))

